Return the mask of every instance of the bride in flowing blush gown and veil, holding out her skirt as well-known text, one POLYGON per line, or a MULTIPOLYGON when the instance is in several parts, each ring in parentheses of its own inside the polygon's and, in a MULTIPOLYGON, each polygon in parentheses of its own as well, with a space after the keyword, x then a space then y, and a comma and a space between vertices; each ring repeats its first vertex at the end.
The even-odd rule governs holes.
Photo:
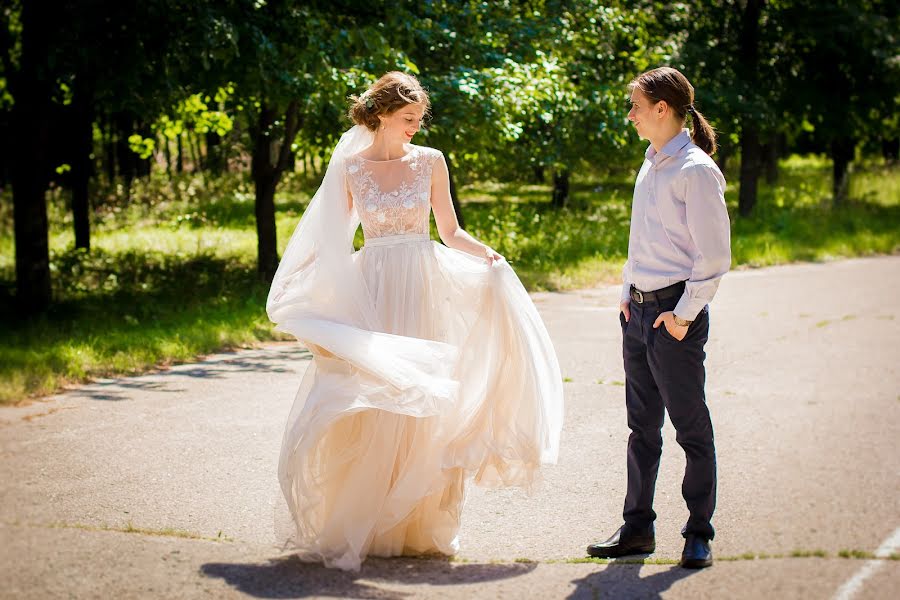
POLYGON ((410 143, 425 90, 391 72, 352 101, 266 309, 313 356, 282 441, 278 541, 358 570, 455 553, 470 480, 530 491, 556 462, 563 398, 531 299, 459 227, 443 154, 410 143))

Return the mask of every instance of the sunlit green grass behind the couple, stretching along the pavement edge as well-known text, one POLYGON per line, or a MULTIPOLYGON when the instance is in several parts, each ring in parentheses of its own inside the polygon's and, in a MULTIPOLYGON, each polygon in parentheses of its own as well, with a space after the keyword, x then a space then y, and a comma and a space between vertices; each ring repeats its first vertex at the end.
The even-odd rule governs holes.
MULTIPOLYGON (((735 267, 900 251, 900 170, 879 162, 857 170, 850 200, 834 208, 829 169, 818 157, 783 161, 778 184, 761 186, 750 218, 735 216, 738 190, 729 184, 735 267)), ((530 290, 613 283, 627 250, 632 176, 576 177, 562 211, 550 206, 546 185, 465 186, 467 229, 504 254, 530 290)), ((299 176, 280 187, 280 250, 312 189, 299 176)), ((265 316, 268 285, 255 275, 254 197, 245 178, 170 182, 155 173, 130 193, 121 185, 94 190, 89 254, 73 248, 68 195, 49 196, 55 303, 20 322, 12 206, 8 190, 0 195, 0 404, 284 339, 265 316)))

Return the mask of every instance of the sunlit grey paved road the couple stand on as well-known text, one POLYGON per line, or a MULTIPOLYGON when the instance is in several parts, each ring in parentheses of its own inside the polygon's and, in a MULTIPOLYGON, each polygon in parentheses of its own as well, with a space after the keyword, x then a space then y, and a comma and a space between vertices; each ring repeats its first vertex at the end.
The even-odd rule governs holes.
POLYGON ((283 422, 309 361, 295 344, 2 408, 0 597, 895 594, 900 561, 870 554, 900 552, 900 257, 726 276, 707 346, 719 560, 699 573, 672 564, 687 513, 668 423, 657 553, 577 562, 619 525, 624 494, 617 297, 534 296, 567 378, 560 462, 530 498, 472 488, 454 561, 347 574, 271 547, 283 422))

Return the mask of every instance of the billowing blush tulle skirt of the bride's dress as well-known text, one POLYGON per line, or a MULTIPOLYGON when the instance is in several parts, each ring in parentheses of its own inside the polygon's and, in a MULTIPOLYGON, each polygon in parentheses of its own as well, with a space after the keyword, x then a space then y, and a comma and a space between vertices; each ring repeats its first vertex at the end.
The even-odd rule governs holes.
POLYGON ((468 483, 530 491, 556 461, 553 345, 505 261, 418 234, 367 240, 353 261, 374 331, 279 327, 313 361, 282 442, 277 543, 348 570, 366 556, 453 554, 468 483))

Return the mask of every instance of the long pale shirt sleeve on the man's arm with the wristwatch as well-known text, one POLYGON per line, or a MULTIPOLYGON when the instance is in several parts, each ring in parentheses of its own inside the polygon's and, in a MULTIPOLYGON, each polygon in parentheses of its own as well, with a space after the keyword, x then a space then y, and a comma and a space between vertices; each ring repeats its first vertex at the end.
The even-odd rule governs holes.
POLYGON ((693 321, 712 301, 722 276, 731 268, 731 224, 725 206, 725 180, 712 167, 684 169, 687 227, 696 248, 694 266, 675 315, 693 321))

